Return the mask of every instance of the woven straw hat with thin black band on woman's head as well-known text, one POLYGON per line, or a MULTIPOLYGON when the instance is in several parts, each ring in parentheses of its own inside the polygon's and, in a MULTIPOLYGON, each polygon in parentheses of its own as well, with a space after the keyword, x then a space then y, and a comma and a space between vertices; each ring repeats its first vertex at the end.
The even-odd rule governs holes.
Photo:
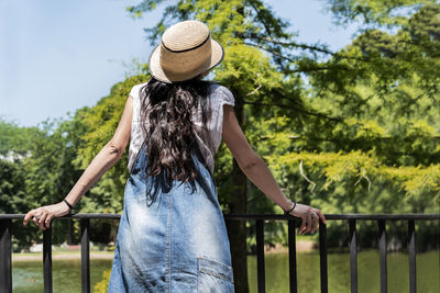
POLYGON ((148 61, 150 74, 164 82, 191 79, 223 60, 224 50, 200 21, 183 21, 163 34, 148 61))

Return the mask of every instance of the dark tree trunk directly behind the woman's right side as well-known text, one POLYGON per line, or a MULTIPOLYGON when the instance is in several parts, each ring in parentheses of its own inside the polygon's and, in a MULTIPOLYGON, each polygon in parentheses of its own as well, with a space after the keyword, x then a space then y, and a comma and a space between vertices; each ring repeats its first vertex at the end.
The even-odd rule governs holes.
MULTIPOLYGON (((235 100, 235 116, 240 123, 244 123, 243 101, 235 100)), ((233 199, 230 203, 232 214, 246 213, 248 178, 240 169, 235 158, 232 167, 233 199)), ((248 261, 246 261, 246 221, 231 219, 227 222, 229 239, 231 245, 231 257, 233 267, 234 285, 237 292, 248 293, 248 261)))

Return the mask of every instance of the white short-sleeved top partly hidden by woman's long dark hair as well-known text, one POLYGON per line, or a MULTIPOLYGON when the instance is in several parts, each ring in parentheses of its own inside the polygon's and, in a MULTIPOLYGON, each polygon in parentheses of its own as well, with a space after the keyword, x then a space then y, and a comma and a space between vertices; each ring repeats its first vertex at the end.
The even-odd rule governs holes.
MULTIPOLYGON (((133 119, 131 123, 129 165, 128 165, 130 171, 132 169, 136 155, 141 149, 142 143, 145 139, 145 136, 141 128, 142 122, 141 122, 140 89, 147 82, 135 84, 130 91, 130 95, 133 98, 133 119)), ((209 148, 210 144, 204 142, 201 136, 196 134, 196 138, 200 153, 204 156, 211 171, 211 174, 213 174, 213 167, 215 167, 213 157, 217 154, 217 150, 221 144, 221 134, 223 125, 223 104, 227 103, 234 106, 235 100, 232 92, 228 88, 216 83, 211 83, 208 99, 210 99, 210 102, 207 104, 211 106, 212 114, 211 114, 211 120, 208 120, 207 128, 210 132, 211 139, 213 139, 211 144, 213 149, 209 148)), ((202 126, 200 112, 197 112, 197 115, 193 116, 193 122, 199 126, 202 126)), ((148 124, 147 121, 145 123, 146 125, 148 124)))

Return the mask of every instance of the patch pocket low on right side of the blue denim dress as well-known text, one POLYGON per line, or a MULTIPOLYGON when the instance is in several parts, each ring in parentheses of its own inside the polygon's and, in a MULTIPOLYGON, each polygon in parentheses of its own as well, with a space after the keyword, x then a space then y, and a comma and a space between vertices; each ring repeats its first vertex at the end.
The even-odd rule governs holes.
POLYGON ((209 257, 197 258, 197 292, 233 293, 232 267, 209 257))

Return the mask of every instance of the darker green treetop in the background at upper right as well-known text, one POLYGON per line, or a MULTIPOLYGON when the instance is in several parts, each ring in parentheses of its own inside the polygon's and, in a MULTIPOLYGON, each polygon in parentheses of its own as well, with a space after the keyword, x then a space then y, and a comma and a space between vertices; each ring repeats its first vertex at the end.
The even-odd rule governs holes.
POLYGON ((312 87, 321 92, 351 98, 353 86, 371 83, 384 98, 396 87, 410 84, 438 105, 439 15, 440 4, 424 5, 395 34, 366 30, 329 60, 301 60, 298 70, 308 71, 312 87))

